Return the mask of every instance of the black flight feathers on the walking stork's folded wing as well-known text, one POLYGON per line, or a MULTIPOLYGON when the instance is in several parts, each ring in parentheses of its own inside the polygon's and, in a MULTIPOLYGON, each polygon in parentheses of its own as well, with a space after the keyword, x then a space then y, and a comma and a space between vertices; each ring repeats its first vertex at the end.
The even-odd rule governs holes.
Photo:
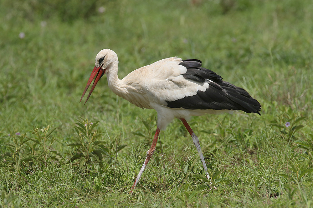
POLYGON ((260 114, 261 105, 241 87, 224 82, 215 72, 201 67, 198 59, 183 60, 180 65, 187 68, 182 74, 185 79, 194 82, 208 82, 206 91, 198 91, 196 95, 167 102, 170 108, 185 109, 213 109, 213 110, 241 110, 247 113, 260 114), (210 81, 209 81, 210 80, 210 81))

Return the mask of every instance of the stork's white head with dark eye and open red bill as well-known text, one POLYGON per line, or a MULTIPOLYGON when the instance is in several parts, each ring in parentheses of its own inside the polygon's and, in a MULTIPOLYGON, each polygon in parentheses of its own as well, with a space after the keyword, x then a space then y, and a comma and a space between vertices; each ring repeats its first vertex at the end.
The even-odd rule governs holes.
POLYGON ((83 97, 84 97, 88 87, 90 86, 92 80, 95 78, 95 81, 91 86, 91 89, 90 89, 90 92, 89 92, 88 97, 86 99, 86 102, 89 99, 92 91, 95 89, 95 86, 97 85, 100 78, 105 73, 107 73, 109 71, 110 67, 112 66, 112 64, 114 62, 118 62, 117 60, 118 59, 117 59, 116 53, 110 49, 103 49, 97 54, 97 56, 95 58, 95 68, 91 72, 91 75, 89 77, 89 80, 87 82, 85 90, 83 92, 83 95, 80 98, 80 102, 83 99, 83 97))

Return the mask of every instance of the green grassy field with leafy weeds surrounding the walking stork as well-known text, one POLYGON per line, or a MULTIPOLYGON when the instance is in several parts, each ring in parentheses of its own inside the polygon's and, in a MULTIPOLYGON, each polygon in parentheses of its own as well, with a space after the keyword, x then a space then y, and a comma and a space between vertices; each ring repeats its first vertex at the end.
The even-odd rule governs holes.
POLYGON ((311 0, 0 1, 0 205, 312 207, 312 20, 311 0), (129 194, 156 112, 105 78, 79 103, 104 48, 120 78, 197 58, 261 103, 190 121, 217 189, 174 120, 129 194))

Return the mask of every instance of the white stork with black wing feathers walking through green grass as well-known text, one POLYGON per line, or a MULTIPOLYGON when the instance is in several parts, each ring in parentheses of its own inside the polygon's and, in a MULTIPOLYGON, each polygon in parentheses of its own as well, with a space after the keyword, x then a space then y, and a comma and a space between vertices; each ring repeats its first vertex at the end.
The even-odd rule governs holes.
POLYGON ((165 130, 174 118, 182 121, 192 137, 206 177, 208 181, 211 181, 199 139, 188 125, 187 120, 191 116, 233 113, 233 111, 261 115, 261 105, 256 99, 251 97, 243 88, 223 81, 221 76, 202 67, 202 62, 198 59, 165 58, 136 69, 123 79, 118 78, 117 71, 118 57, 116 53, 110 49, 101 50, 95 57, 95 67, 80 102, 91 82, 95 79, 85 103, 100 78, 106 74, 108 86, 116 95, 137 107, 156 110, 156 133, 130 192, 135 189, 156 149, 160 131, 165 130))

